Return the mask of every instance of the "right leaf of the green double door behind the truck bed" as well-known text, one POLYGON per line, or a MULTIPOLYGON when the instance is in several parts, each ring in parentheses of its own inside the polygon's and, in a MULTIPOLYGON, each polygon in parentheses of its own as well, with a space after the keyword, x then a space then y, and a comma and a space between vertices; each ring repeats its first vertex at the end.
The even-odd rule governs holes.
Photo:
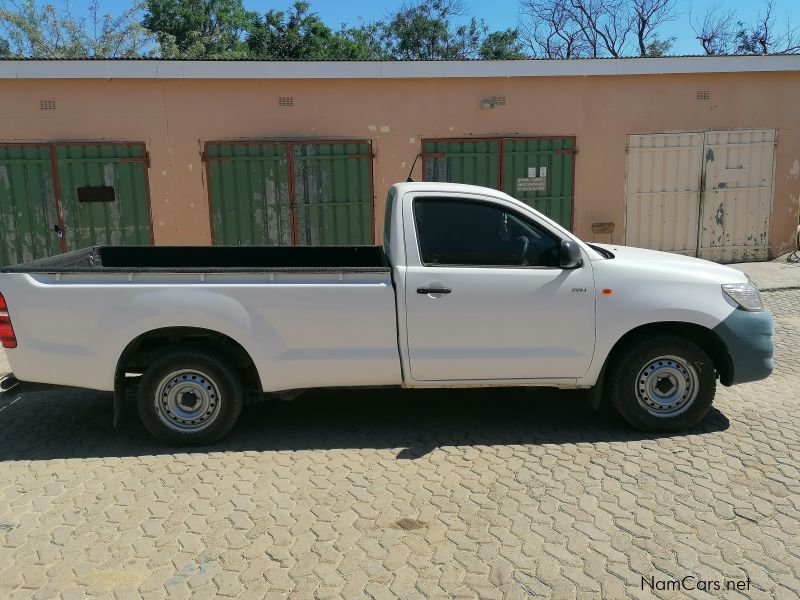
POLYGON ((292 143, 296 241, 371 244, 372 152, 366 142, 292 143))

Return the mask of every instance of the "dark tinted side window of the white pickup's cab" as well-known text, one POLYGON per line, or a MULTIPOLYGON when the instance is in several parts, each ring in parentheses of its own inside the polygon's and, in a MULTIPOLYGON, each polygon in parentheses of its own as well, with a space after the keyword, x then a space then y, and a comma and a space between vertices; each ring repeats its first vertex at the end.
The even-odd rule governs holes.
POLYGON ((417 198, 414 221, 422 262, 472 267, 559 264, 559 239, 499 206, 454 198, 417 198))

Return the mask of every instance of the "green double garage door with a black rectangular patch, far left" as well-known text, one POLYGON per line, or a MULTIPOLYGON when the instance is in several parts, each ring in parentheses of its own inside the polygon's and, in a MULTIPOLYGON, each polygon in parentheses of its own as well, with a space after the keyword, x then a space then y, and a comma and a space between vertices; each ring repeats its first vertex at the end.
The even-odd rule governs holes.
POLYGON ((0 264, 151 244, 144 144, 0 144, 0 218, 0 264))

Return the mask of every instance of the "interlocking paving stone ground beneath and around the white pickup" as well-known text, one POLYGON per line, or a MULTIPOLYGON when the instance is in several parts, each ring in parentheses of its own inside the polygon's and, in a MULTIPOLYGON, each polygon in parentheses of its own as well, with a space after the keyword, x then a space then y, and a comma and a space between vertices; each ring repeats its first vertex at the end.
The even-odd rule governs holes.
POLYGON ((800 290, 764 297, 775 373, 685 435, 575 393, 325 392, 181 452, 107 394, 0 402, 0 597, 796 598, 800 290), (642 590, 687 575, 749 589, 642 590))

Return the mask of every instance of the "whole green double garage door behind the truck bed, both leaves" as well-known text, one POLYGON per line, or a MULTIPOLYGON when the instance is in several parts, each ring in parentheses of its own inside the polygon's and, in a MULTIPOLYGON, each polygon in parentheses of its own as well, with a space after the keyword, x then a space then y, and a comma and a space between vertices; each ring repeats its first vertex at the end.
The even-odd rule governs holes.
POLYGON ((214 244, 373 242, 369 142, 214 142, 205 158, 214 244))

